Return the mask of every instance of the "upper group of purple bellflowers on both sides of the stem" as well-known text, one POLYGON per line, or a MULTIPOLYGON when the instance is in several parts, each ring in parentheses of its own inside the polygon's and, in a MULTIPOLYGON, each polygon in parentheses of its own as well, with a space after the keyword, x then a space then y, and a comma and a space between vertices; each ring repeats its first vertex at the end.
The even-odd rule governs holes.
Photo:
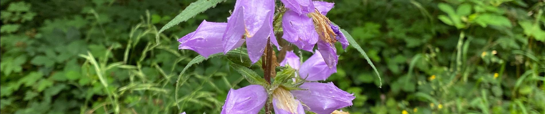
MULTIPOLYGON (((282 38, 306 51, 312 51, 317 44, 326 64, 330 68, 336 66, 334 43, 340 41, 344 49, 348 41, 338 26, 324 16, 334 4, 311 0, 282 0, 282 3, 288 8, 282 17, 282 38)), ((203 21, 195 32, 178 39, 179 49, 208 57, 227 53, 246 42, 248 56, 255 63, 263 55, 268 39, 280 49, 272 28, 274 11, 274 0, 237 0, 227 23, 203 21)))

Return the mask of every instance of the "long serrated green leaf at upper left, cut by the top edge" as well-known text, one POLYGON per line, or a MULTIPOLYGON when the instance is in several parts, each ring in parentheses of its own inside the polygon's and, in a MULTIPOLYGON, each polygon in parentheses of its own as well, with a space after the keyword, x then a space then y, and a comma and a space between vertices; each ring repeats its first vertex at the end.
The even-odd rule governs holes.
POLYGON ((185 22, 187 21, 187 19, 195 17, 197 14, 200 14, 201 12, 204 12, 210 8, 214 8, 216 4, 225 2, 225 1, 226 0, 198 0, 197 2, 193 2, 189 4, 189 6, 187 6, 183 11, 181 11, 180 14, 174 17, 174 19, 172 19, 165 26, 163 26, 161 30, 159 30, 159 32, 155 36, 156 42, 159 44, 159 35, 161 32, 181 22, 185 22))

